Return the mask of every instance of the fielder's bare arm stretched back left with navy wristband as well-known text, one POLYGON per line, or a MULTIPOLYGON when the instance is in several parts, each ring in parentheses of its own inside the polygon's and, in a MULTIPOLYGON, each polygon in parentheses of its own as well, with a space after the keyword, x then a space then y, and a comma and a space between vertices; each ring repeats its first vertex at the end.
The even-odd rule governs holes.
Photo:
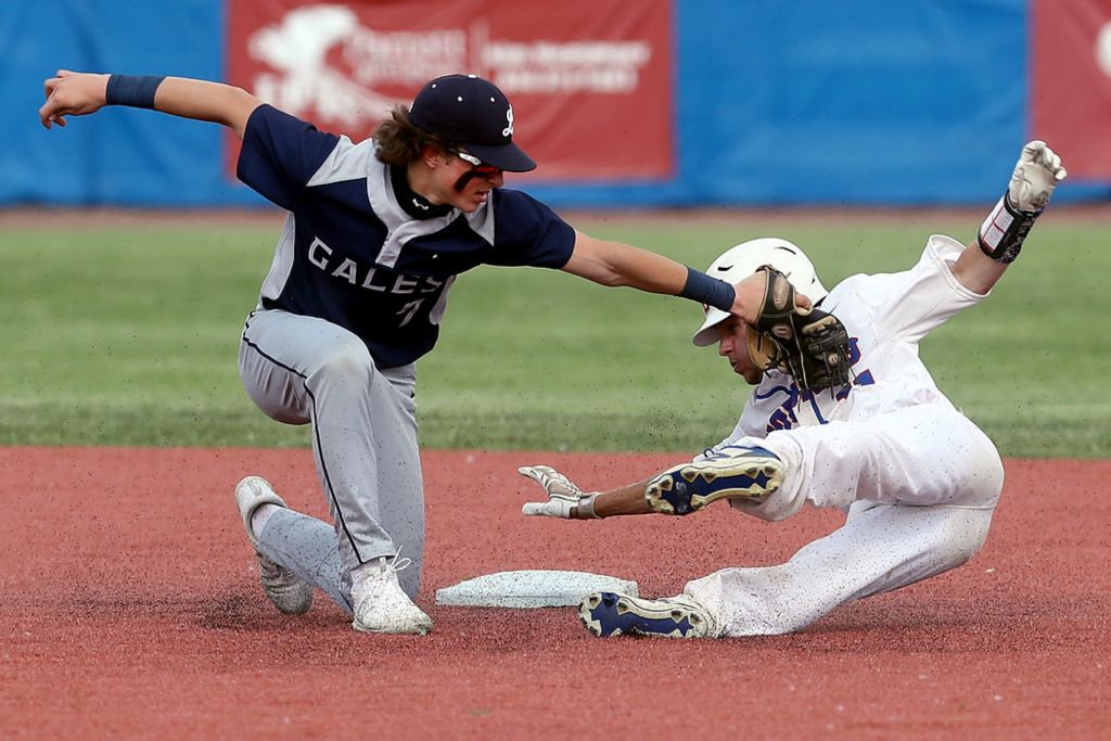
POLYGON ((88 116, 104 106, 131 106, 221 123, 242 137, 251 112, 262 104, 240 88, 188 78, 138 78, 58 70, 43 84, 47 102, 39 120, 50 128, 66 126, 67 116, 88 116))

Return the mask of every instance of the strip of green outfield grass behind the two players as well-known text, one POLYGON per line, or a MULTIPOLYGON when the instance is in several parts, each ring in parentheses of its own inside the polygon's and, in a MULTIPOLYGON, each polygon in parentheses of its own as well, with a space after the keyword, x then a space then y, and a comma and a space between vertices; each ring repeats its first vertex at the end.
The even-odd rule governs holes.
MULTIPOLYGON (((931 231, 975 223, 577 226, 704 267, 743 239, 804 246, 827 286, 901 270, 931 231)), ((1111 272, 1101 224, 1047 219, 982 306, 931 334, 939 385, 1007 455, 1108 457, 1111 272)), ((242 320, 274 228, 9 229, 0 234, 0 444, 303 445, 236 372, 242 320)), ((731 429, 748 393, 690 334, 688 301, 607 290, 548 270, 481 268, 452 289, 440 346, 419 369, 430 448, 690 451, 731 429)))

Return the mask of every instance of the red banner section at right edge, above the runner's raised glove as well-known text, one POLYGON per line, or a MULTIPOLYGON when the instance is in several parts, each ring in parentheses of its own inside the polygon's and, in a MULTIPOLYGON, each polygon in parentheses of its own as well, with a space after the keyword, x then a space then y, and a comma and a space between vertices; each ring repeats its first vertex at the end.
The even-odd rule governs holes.
POLYGON ((1111 178, 1111 0, 1033 0, 1031 136, 1072 178, 1111 178))

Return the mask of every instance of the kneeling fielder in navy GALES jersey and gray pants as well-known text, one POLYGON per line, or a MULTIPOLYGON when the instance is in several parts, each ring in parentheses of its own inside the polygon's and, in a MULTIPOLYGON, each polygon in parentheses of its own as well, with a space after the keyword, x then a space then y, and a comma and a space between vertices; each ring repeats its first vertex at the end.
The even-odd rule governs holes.
POLYGON ((436 344, 457 276, 553 268, 749 318, 763 290, 761 277, 734 287, 593 239, 503 189, 504 172, 536 163, 513 142, 506 96, 476 76, 430 81, 359 143, 216 82, 60 70, 44 88, 48 129, 104 104, 228 127, 242 139, 239 178, 288 211, 239 370, 268 415, 312 425, 332 523, 287 508, 260 477, 236 488, 262 587, 284 613, 309 610, 319 588, 357 630, 431 629, 412 601, 424 552, 416 362, 436 344))

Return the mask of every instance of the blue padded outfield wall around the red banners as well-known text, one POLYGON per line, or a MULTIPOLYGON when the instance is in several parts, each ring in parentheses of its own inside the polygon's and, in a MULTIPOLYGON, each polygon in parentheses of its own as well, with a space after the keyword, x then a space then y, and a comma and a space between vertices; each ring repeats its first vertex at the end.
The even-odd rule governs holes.
MULTIPOLYGON (((518 184, 557 207, 980 204, 1037 133, 1028 0, 670 8, 673 176, 518 184)), ((57 68, 222 80, 227 24, 221 0, 0 3, 0 204, 261 203, 229 180, 217 126, 107 109, 46 131, 36 116, 57 68)))

